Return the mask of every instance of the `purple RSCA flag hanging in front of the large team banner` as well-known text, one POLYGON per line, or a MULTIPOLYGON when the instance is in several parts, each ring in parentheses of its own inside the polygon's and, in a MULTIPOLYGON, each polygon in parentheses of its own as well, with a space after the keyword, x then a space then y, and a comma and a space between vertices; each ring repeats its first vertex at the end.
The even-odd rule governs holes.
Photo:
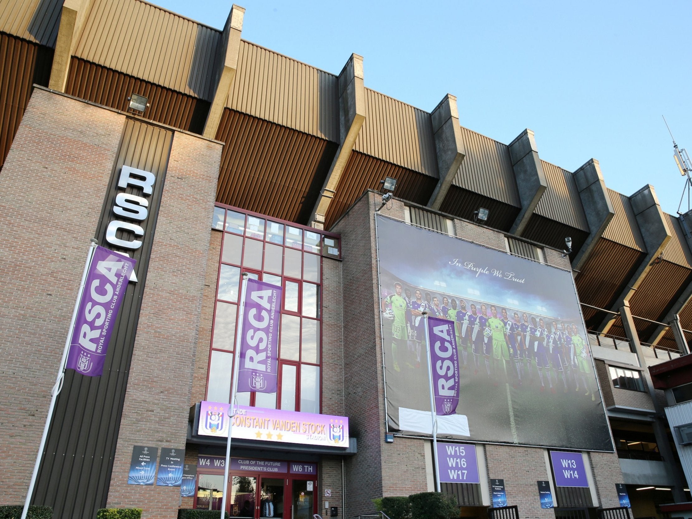
POLYGON ((428 340, 435 412, 453 415, 459 405, 459 353, 454 322, 428 317, 428 340))

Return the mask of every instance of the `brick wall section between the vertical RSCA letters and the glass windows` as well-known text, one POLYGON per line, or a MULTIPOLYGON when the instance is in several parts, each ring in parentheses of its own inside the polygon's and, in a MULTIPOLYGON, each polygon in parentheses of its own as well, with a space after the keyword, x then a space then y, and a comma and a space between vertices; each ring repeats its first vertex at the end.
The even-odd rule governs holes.
POLYGON ((175 518, 180 502, 178 487, 127 473, 134 445, 185 447, 220 158, 221 145, 174 135, 108 496, 144 518, 175 518))

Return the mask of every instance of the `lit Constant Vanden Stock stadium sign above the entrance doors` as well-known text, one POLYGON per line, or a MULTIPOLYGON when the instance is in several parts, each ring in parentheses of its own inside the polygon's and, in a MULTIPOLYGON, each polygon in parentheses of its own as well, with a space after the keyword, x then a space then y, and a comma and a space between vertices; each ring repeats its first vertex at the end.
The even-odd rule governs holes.
MULTIPOLYGON (((230 404, 202 402, 197 434, 228 437, 230 404)), ((348 418, 315 415, 311 412, 284 411, 236 406, 233 438, 280 441, 289 444, 349 446, 348 418)))

